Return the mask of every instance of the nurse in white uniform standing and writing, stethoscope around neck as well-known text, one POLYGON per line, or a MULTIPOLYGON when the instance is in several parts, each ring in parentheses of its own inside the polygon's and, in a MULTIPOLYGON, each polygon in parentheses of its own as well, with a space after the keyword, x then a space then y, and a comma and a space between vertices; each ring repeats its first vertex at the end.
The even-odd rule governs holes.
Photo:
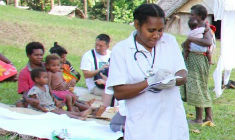
POLYGON ((187 71, 178 43, 164 33, 165 14, 156 4, 140 5, 133 16, 136 30, 113 47, 106 83, 118 100, 126 101, 124 139, 187 140, 178 87, 187 71), (171 80, 156 84, 166 77, 171 80))

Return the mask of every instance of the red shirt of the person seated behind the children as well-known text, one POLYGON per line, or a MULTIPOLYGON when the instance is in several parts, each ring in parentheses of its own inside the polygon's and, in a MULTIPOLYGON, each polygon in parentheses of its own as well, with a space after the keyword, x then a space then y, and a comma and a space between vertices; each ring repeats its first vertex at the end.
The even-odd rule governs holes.
POLYGON ((25 68, 23 68, 20 71, 19 78, 18 78, 18 93, 19 94, 23 94, 23 92, 25 91, 27 92, 33 87, 34 82, 31 79, 31 75, 30 75, 31 70, 32 69, 28 64, 25 68))

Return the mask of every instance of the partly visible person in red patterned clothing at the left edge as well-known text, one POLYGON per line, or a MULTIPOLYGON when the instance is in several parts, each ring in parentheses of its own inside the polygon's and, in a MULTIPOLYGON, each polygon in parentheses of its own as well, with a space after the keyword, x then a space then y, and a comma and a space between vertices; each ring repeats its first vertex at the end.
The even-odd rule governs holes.
POLYGON ((17 81, 17 70, 13 63, 0 53, 0 82, 17 81))

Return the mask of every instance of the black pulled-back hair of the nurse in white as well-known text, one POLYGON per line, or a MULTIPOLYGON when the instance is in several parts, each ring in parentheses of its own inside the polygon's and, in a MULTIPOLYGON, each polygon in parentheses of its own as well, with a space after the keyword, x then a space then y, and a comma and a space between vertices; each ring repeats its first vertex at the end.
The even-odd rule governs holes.
POLYGON ((135 20, 139 21, 140 25, 143 25, 148 19, 148 17, 160 17, 165 21, 165 13, 161 7, 156 4, 142 4, 137 7, 133 13, 135 20))

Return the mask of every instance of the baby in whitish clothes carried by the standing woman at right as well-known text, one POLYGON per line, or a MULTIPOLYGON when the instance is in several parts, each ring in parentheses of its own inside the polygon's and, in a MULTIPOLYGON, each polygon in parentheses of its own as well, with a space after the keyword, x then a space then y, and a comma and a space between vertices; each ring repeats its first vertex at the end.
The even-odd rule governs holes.
MULTIPOLYGON (((189 25, 189 28, 191 29, 191 31, 189 32, 189 36, 196 37, 196 38, 203 38, 205 27, 198 27, 198 21, 196 19, 190 18, 188 21, 188 25, 189 25)), ((203 46, 200 46, 191 42, 190 47, 185 48, 185 52, 184 52, 185 59, 188 57, 189 51, 195 52, 195 53, 206 53, 209 64, 212 64, 212 55, 211 55, 209 47, 203 47, 203 46)))

